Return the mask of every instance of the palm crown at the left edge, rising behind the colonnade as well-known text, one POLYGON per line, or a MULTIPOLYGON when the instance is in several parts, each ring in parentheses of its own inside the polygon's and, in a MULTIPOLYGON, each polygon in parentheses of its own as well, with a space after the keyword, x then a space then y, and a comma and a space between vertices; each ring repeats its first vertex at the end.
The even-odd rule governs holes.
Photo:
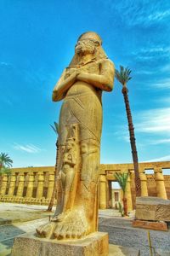
POLYGON ((8 154, 0 154, 0 175, 10 174, 10 167, 12 166, 13 160, 10 159, 8 154))

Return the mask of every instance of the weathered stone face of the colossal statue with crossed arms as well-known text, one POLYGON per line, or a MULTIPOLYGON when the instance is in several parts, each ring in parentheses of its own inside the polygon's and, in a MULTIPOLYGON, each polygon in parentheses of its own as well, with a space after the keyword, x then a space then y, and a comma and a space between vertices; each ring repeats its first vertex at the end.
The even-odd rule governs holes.
POLYGON ((95 43, 92 40, 84 39, 77 42, 75 47, 75 53, 78 55, 93 54, 95 49, 95 43))

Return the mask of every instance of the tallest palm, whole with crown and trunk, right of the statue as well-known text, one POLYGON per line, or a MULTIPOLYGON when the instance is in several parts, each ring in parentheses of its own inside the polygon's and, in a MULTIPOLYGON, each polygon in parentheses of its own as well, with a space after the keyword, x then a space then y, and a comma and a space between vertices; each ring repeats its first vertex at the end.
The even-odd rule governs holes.
POLYGON ((130 104, 128 101, 128 89, 127 89, 127 82, 130 79, 132 79, 132 77, 130 77, 131 72, 132 71, 128 67, 124 68, 120 66, 120 72, 116 70, 116 79, 122 84, 122 94, 124 97, 125 107, 127 111, 128 131, 129 131, 130 143, 131 143, 132 154, 133 154, 135 190, 136 190, 136 196, 140 196, 141 182, 139 178, 139 160, 138 160, 138 152, 137 152, 136 143, 135 143, 133 119, 132 119, 130 104))

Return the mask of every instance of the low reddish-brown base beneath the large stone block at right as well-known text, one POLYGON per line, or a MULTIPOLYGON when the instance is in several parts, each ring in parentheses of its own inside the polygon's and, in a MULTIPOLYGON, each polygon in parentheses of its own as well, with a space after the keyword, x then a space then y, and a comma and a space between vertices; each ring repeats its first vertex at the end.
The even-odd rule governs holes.
POLYGON ((167 223, 165 223, 165 222, 133 220, 133 227, 134 228, 142 228, 142 229, 146 229, 146 230, 167 231, 167 223))

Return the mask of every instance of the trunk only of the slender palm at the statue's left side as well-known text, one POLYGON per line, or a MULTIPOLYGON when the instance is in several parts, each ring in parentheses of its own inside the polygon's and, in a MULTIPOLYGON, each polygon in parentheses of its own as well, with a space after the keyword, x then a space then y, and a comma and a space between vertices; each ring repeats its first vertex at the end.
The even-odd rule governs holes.
POLYGON ((54 171, 54 189, 51 196, 51 200, 48 205, 48 212, 52 212, 54 206, 54 199, 57 192, 57 182, 58 182, 58 161, 59 161, 59 141, 56 142, 56 161, 55 161, 55 171, 54 171))

